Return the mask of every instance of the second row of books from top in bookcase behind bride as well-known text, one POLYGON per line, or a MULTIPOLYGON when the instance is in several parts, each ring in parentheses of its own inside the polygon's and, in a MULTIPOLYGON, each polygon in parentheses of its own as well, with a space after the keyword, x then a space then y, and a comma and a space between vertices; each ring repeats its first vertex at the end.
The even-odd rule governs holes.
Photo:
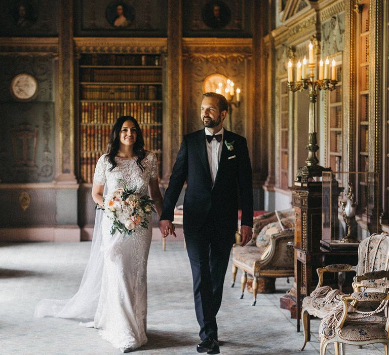
POLYGON ((125 82, 162 82, 161 69, 100 69, 82 68, 80 71, 81 82, 125 83, 125 82))

